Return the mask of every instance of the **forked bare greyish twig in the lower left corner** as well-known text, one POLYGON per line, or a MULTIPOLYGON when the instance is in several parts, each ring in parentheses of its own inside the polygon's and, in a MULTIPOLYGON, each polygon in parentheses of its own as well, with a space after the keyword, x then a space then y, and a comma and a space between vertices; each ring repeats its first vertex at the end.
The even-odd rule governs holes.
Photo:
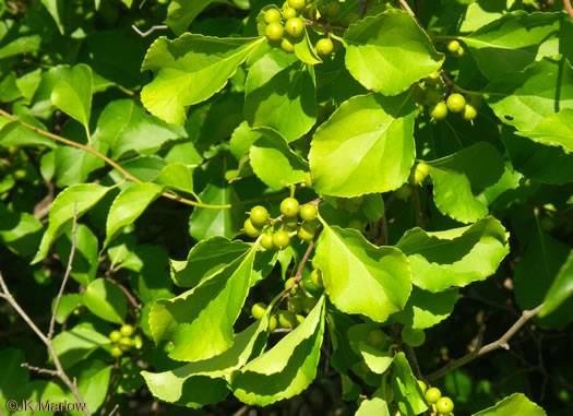
MULTIPOLYGON (((49 370, 49 369, 44 369, 44 368, 32 367, 32 366, 28 366, 27 364, 25 366, 23 365, 23 367, 26 367, 26 368, 28 368, 31 370, 38 371, 40 373, 48 373, 48 375, 58 377, 68 387, 68 389, 70 389, 70 391, 73 393, 73 395, 77 400, 77 403, 85 403, 85 401, 83 400, 82 395, 80 394, 80 391, 77 390, 77 384, 76 384, 75 378, 73 379, 73 381, 70 380, 70 377, 68 377, 68 375, 63 370, 63 367, 62 367, 62 365, 60 362, 60 358, 58 357, 58 354, 56 353, 56 349, 53 348, 53 342, 52 342, 56 313, 58 312, 58 306, 59 306, 61 297, 63 295, 63 288, 64 288, 65 283, 68 281, 68 276, 71 273, 71 264, 73 263, 73 258, 74 258, 74 254, 75 254, 75 225, 76 225, 75 205, 74 205, 74 213, 73 214, 74 215, 73 215, 73 225, 72 225, 72 227, 73 227, 72 228, 72 250, 70 251, 70 259, 68 261, 68 269, 65 270, 65 275, 64 275, 64 277, 62 280, 62 284, 60 286, 60 292, 58 293, 58 297, 56 299, 56 307, 53 308, 53 313, 52 313, 52 318, 51 318, 51 321, 50 321, 48 335, 45 335, 44 332, 41 332, 39 330, 39 328, 28 317, 28 314, 24 311, 24 309, 22 309, 20 304, 16 301, 16 299, 14 299, 14 297, 10 293, 10 289, 8 288, 8 285, 4 282, 4 277, 2 276, 2 272, 0 272, 0 288, 2 289, 2 292, 0 293, 0 298, 5 299, 12 306, 12 308, 17 312, 17 314, 20 314, 20 317, 27 323, 27 325, 32 329, 32 331, 34 331, 36 333, 36 335, 41 340, 41 342, 46 345, 46 347, 48 348, 48 350, 49 350, 49 353, 51 355, 51 358, 53 360, 53 365, 56 367, 56 370, 49 370)), ((89 411, 86 407, 83 408, 83 413, 86 416, 91 416, 91 413, 89 413, 89 411)))

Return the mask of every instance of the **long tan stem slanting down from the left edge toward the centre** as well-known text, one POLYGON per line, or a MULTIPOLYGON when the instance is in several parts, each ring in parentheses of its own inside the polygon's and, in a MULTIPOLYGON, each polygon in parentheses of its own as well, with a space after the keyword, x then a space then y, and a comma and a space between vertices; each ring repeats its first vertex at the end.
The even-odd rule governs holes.
MULTIPOLYGON (((76 147, 76 148, 81 148, 85 152, 88 152, 88 153, 92 153, 93 155, 97 156, 98 158, 100 158, 102 161, 104 161, 105 163, 107 163, 109 166, 111 166, 114 169, 118 170, 119 173, 121 173, 121 175, 123 175, 123 177, 127 179, 127 180, 131 180, 132 182, 135 182, 135 183, 141 183, 142 180, 134 177, 133 175, 131 175, 129 171, 127 171, 126 169, 123 169, 117 162, 115 161, 111 161, 109 157, 107 157, 106 155, 104 155, 103 153, 99 153, 98 151, 96 151, 94 147, 92 147, 91 145, 85 145, 85 144, 81 144, 81 143, 76 143, 72 140, 69 140, 69 139, 65 139, 65 138, 62 138, 61 135, 58 135, 58 134, 53 134, 53 133, 50 133, 49 131, 45 131, 45 130, 40 130, 38 129, 37 127, 35 126, 32 126, 32 124, 28 124, 27 122, 25 121, 22 121, 20 120, 17 117, 11 115, 10 112, 7 112, 4 111, 3 109, 0 108, 0 115, 1 116, 4 116, 7 118, 9 118, 10 120, 12 121, 17 121, 19 123, 21 123, 22 126, 24 126, 26 129, 29 129, 38 134, 41 134, 46 138, 49 138, 56 142, 59 142, 59 143, 63 143, 63 144, 67 144, 69 146, 72 146, 72 147, 76 147)), ((174 201, 178 201, 178 202, 181 202, 183 204, 187 204, 187 205, 192 205, 192 206, 196 206, 196 207, 202 207, 202 209, 211 209, 211 210, 228 210, 230 207, 232 207, 231 204, 223 204, 223 205, 212 205, 212 204, 205 204, 203 202, 198 202, 198 201, 191 201, 191 200, 188 200, 187 198, 182 198, 180 195, 177 195, 175 193, 170 193, 170 192, 164 192, 162 194, 164 198, 167 198, 167 199, 170 199, 170 200, 174 200, 174 201)))

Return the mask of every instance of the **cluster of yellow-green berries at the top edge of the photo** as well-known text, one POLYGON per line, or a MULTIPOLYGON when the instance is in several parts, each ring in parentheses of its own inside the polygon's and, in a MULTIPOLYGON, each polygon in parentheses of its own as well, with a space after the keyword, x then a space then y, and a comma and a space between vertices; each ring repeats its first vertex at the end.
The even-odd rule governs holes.
MULTIPOLYGON (((338 14, 341 5, 338 3, 329 3, 329 10, 336 4, 338 14)), ((266 23, 265 35, 273 43, 280 41, 284 51, 291 54, 295 51, 295 44, 300 41, 305 32, 305 22, 300 14, 315 19, 317 9, 313 4, 307 4, 307 0, 287 0, 282 9, 267 9, 264 12, 264 22, 266 23)), ((314 49, 320 57, 327 57, 332 54, 334 44, 330 37, 321 38, 314 45, 314 49)))

